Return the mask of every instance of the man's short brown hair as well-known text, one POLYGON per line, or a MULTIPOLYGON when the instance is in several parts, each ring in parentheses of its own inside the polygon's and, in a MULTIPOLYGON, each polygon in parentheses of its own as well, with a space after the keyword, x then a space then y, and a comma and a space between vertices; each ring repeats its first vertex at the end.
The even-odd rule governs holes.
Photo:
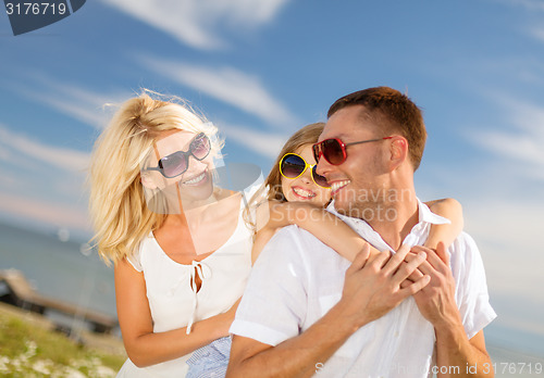
POLYGON ((413 171, 418 169, 425 148, 426 130, 421 110, 408 96, 388 87, 359 90, 336 100, 329 109, 327 117, 353 105, 363 105, 385 134, 399 133, 405 137, 413 171))

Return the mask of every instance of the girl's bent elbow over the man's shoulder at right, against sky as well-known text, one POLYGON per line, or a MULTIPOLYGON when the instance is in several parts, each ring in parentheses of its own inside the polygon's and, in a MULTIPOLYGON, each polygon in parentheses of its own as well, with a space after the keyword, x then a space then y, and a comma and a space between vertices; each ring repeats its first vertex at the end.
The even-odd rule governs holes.
POLYGON ((452 220, 452 224, 431 226, 431 231, 424 247, 436 249, 440 241, 443 241, 446 248, 449 247, 462 231, 463 219, 461 204, 453 198, 429 201, 425 202, 425 204, 433 213, 452 220))

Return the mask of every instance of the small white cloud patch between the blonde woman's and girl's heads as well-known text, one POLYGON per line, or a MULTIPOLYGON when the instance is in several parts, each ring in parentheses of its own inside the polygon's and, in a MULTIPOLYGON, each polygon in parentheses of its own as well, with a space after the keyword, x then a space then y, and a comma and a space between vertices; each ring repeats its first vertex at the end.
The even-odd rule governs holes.
POLYGON ((228 143, 228 140, 234 140, 251 152, 271 160, 276 159, 288 138, 288 135, 262 133, 254 128, 225 125, 223 123, 220 128, 221 133, 226 136, 226 143, 228 143))

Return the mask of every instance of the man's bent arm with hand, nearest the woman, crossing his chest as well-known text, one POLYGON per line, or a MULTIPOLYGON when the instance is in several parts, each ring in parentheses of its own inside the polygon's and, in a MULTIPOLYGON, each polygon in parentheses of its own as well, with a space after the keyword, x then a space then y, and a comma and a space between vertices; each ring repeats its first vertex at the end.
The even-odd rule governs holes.
POLYGON ((276 346, 235 337, 226 377, 310 377, 317 364, 324 364, 360 327, 429 284, 430 277, 422 275, 400 288, 424 261, 424 254, 405 263, 407 245, 391 259, 388 252, 381 252, 368 260, 369 250, 367 245, 346 270, 339 302, 301 335, 276 346))

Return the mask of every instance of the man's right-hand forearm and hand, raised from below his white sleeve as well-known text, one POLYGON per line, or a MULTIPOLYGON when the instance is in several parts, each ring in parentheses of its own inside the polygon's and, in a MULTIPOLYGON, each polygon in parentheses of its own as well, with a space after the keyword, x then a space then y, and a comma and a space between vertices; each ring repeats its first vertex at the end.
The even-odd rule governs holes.
MULTIPOLYGON (((461 315, 455 300, 455 279, 449 266, 449 256, 443 242, 438 243, 436 252, 424 247, 413 247, 413 252, 426 253, 426 261, 419 266, 420 273, 411 276, 429 275, 431 282, 413 295, 421 314, 432 323, 436 335, 436 364, 445 366, 444 371, 453 371, 450 367, 458 366, 456 377, 493 377, 491 358, 485 350, 483 330, 470 340, 465 331, 461 315), (468 367, 475 369, 469 374, 468 367), (475 373, 475 375, 474 375, 475 373)), ((407 256, 407 261, 412 260, 407 256)), ((403 284, 406 286, 408 284, 403 284)), ((438 374, 440 378, 450 377, 449 374, 438 374)))

